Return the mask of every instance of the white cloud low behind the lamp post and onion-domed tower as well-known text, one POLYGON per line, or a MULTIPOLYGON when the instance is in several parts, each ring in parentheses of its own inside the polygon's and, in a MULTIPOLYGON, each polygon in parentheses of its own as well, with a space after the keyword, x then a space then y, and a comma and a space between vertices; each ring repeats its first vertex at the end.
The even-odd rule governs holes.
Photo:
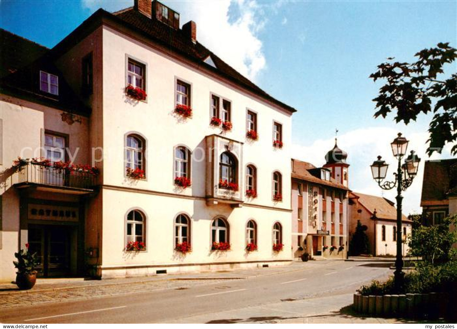
MULTIPOLYGON (((397 137, 398 130, 387 127, 367 127, 360 128, 344 133, 338 137, 338 147, 348 153, 347 162, 349 167, 349 188, 353 191, 384 196, 393 202, 396 202, 396 189, 383 191, 373 180, 370 165, 376 160, 378 155, 383 156, 389 164, 388 175, 386 180, 393 180, 393 171, 396 171, 396 159, 392 155, 390 143, 397 137)), ((422 191, 422 178, 424 175, 424 162, 430 159, 450 158, 451 146, 448 145, 442 154, 433 154, 429 158, 425 154, 427 149, 426 141, 428 133, 417 133, 414 131, 405 131, 404 136, 408 138, 408 153, 410 150, 416 151, 421 162, 419 172, 413 181, 413 184, 403 193, 403 213, 419 213, 420 195, 422 191)), ((333 138, 326 140, 316 140, 310 146, 299 144, 292 145, 292 157, 303 161, 310 162, 319 167, 325 163, 325 154, 333 148, 335 140, 333 138)))

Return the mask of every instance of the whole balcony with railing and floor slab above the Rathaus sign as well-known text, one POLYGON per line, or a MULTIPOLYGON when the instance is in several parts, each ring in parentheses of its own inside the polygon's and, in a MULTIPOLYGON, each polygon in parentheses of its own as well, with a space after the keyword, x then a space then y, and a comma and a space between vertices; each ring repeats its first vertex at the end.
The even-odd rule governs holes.
POLYGON ((67 194, 90 194, 97 184, 93 170, 56 168, 25 160, 16 168, 17 188, 34 188, 67 194))

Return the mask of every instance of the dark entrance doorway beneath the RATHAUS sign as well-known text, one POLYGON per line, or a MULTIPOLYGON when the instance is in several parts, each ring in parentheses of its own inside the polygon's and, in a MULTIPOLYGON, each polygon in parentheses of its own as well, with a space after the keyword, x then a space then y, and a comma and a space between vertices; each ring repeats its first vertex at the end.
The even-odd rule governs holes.
POLYGON ((38 276, 70 274, 72 230, 66 225, 28 225, 29 250, 37 253, 38 276))

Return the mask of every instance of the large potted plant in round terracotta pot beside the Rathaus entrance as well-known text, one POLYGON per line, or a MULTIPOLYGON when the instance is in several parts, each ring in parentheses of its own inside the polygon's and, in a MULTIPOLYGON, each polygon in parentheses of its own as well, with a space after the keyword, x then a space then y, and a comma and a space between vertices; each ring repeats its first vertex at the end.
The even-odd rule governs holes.
POLYGON ((26 244, 26 250, 19 250, 14 253, 17 261, 13 261, 17 269, 16 272, 16 285, 21 290, 32 289, 37 282, 37 271, 33 268, 38 265, 37 253, 31 253, 28 250, 29 244, 26 244))

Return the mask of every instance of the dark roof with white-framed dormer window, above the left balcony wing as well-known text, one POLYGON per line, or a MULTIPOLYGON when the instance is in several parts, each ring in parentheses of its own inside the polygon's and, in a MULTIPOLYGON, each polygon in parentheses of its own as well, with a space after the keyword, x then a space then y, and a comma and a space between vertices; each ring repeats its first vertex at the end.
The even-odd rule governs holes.
POLYGON ((0 36, 0 92, 82 115, 90 113, 49 58, 48 48, 5 30, 0 30, 0 36), (58 96, 40 91, 40 70, 58 76, 58 96))

